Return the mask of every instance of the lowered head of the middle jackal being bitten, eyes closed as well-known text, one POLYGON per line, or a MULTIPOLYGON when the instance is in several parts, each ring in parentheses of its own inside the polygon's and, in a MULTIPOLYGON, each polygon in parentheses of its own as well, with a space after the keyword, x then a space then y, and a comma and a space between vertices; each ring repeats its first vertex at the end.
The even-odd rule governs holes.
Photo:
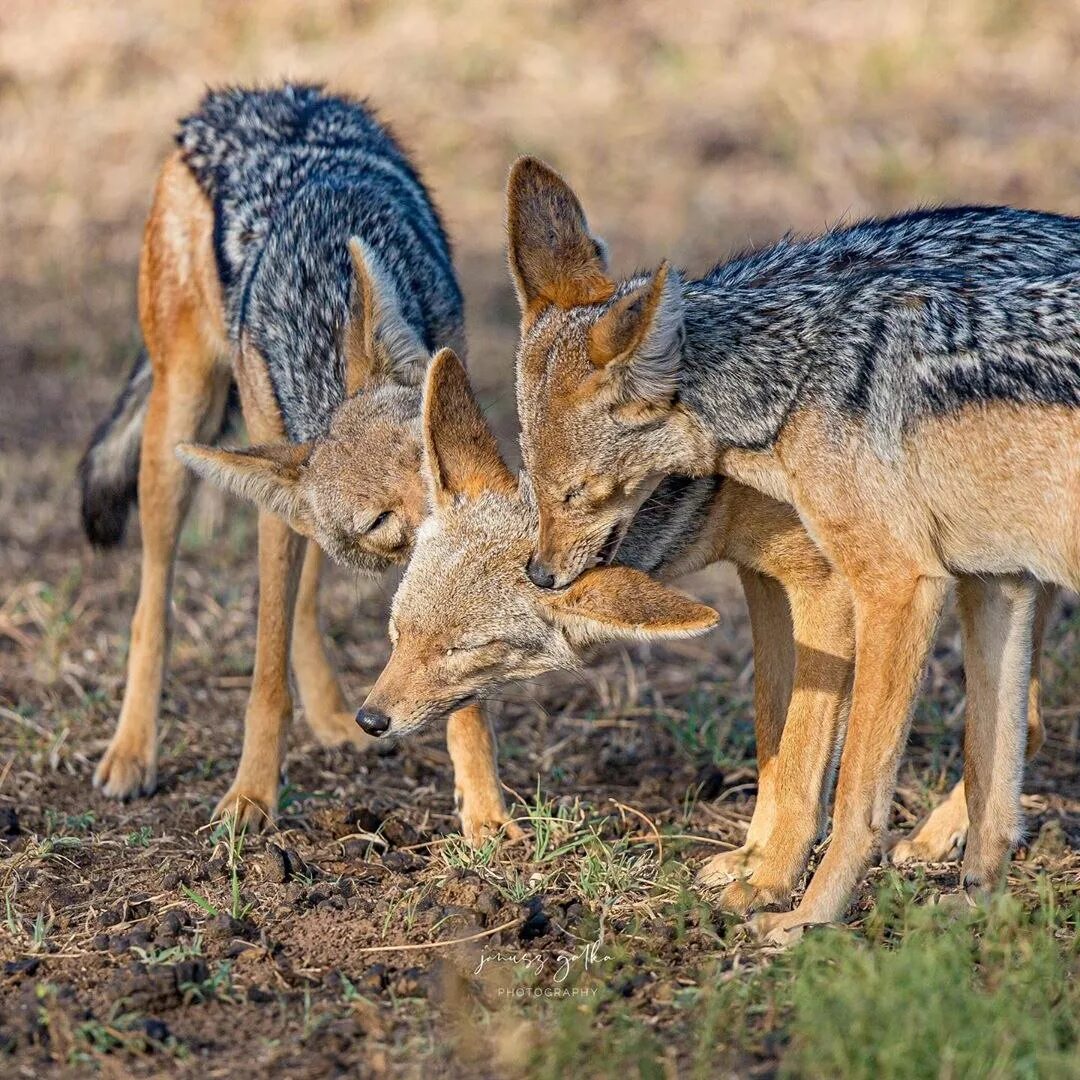
POLYGON ((423 397, 431 514, 394 596, 393 652, 356 723, 405 735, 515 679, 575 667, 594 642, 683 637, 716 612, 638 570, 590 570, 570 588, 525 573, 536 536, 527 482, 515 482, 449 350, 423 397))

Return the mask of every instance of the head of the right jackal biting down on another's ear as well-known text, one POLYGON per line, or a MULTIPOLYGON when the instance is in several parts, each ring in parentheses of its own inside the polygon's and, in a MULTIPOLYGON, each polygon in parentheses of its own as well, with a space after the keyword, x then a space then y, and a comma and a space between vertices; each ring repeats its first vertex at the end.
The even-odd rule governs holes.
POLYGON ((666 264, 612 280, 577 197, 534 158, 511 170, 507 216, 522 457, 540 519, 528 572, 557 589, 611 562, 665 474, 692 472, 681 283, 666 264))

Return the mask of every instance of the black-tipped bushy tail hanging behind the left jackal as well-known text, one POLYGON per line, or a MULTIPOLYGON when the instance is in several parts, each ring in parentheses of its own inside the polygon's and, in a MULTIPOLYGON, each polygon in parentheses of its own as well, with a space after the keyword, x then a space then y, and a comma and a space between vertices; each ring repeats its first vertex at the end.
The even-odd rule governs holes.
POLYGON ((112 411, 97 426, 79 462, 82 527, 95 548, 120 543, 138 496, 138 456, 151 377, 150 357, 140 349, 112 411))

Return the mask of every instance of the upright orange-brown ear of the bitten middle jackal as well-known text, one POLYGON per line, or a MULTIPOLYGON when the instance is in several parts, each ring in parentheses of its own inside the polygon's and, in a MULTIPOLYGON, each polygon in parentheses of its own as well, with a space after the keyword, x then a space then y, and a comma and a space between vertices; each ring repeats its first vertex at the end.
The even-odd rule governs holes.
POLYGON ((499 444, 481 410, 461 361, 441 349, 428 368, 423 390, 423 461, 436 507, 458 496, 517 489, 499 444))

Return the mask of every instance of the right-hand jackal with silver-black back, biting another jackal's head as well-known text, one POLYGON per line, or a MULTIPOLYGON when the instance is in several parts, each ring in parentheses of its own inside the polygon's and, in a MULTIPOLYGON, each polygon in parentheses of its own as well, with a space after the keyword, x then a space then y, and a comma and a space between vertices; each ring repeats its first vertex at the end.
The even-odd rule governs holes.
POLYGON ((969 692, 963 878, 1020 831, 1032 622, 1080 588, 1080 220, 924 211, 784 240, 684 280, 618 282, 569 187, 509 186, 522 303, 529 575, 565 586, 618 551, 666 474, 789 503, 851 588, 855 675, 833 839, 783 936, 838 917, 891 804, 948 582, 969 692))

